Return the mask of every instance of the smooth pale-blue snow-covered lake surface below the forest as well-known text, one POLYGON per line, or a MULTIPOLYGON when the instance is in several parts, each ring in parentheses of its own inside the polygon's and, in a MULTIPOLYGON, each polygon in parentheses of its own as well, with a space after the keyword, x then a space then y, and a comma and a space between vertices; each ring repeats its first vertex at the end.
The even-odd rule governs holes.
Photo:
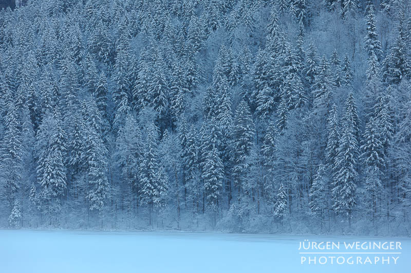
MULTIPOLYGON (((314 251, 314 250, 311 250, 314 251)), ((319 251, 319 250, 316 250, 319 251)), ((326 250, 335 251, 335 250, 326 250)), ((343 250, 341 250, 343 251, 343 250)), ((365 250, 362 250, 365 251, 365 250)), ((375 250, 373 250, 375 251, 375 250)), ((394 250, 387 250, 394 251, 394 250)), ((397 250, 396 250, 397 251, 397 250)), ((313 255, 314 256, 314 255, 313 255)), ((316 255, 349 256, 356 255, 316 255)), ((367 255, 361 255, 367 256, 367 255)), ((372 257, 374 263, 375 256, 372 257)), ((363 260, 365 257, 363 257, 363 260)), ((341 262, 342 260, 340 260, 341 262)), ((324 259, 323 259, 324 262, 324 259)), ((0 230, 0 272, 410 272, 409 238, 0 230), (300 242, 401 242, 397 264, 301 264, 300 242)))

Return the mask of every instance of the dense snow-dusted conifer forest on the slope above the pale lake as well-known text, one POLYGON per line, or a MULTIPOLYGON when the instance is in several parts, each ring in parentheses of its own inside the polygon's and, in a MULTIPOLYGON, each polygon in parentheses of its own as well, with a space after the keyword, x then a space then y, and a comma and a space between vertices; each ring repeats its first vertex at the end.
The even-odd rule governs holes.
POLYGON ((411 234, 408 0, 12 6, 0 226, 411 234))

